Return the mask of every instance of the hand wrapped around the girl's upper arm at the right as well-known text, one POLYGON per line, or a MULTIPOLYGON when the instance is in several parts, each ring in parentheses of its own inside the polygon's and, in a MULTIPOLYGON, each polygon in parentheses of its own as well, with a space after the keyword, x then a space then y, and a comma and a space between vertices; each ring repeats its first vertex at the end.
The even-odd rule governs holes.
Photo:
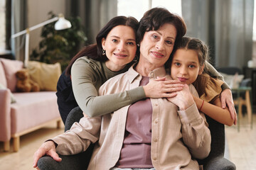
POLYGON ((234 120, 234 124, 236 125, 238 118, 237 118, 237 113, 235 111, 232 92, 230 89, 225 89, 220 94, 220 101, 221 101, 222 108, 225 108, 226 106, 228 106, 228 110, 230 111, 231 118, 234 120))

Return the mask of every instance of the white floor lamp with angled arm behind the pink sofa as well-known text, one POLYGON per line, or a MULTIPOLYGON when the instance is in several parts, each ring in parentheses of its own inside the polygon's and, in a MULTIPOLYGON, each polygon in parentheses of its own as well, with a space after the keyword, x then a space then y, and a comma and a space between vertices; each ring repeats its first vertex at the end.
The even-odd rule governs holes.
POLYGON ((26 28, 26 30, 22 30, 19 33, 16 33, 14 35, 11 35, 11 38, 16 38, 20 35, 26 34, 26 40, 25 40, 25 60, 24 60, 24 67, 28 66, 28 50, 29 50, 29 33, 31 30, 35 30, 36 28, 41 28, 43 26, 46 26, 48 23, 53 23, 54 21, 57 21, 55 23, 55 30, 64 30, 67 28, 71 28, 70 21, 66 20, 63 16, 63 14, 59 14, 55 18, 51 18, 47 21, 44 21, 43 23, 39 23, 36 26, 32 26, 31 28, 26 28))

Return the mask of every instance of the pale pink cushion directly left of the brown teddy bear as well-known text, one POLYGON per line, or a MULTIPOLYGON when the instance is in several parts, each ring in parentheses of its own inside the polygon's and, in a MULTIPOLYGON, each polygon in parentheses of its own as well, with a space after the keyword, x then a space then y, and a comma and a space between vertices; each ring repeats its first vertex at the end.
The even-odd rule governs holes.
POLYGON ((11 92, 16 91, 17 78, 15 73, 23 68, 23 62, 18 60, 1 59, 1 64, 4 67, 7 88, 10 89, 11 92))

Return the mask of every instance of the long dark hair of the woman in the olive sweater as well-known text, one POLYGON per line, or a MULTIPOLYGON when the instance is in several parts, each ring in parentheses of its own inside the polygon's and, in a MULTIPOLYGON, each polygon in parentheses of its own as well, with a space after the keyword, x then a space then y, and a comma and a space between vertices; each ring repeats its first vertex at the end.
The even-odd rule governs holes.
POLYGON ((137 32, 137 29, 139 27, 139 22, 136 18, 129 16, 116 16, 112 18, 106 25, 103 27, 100 32, 96 36, 96 44, 88 45, 80 52, 78 52, 75 57, 73 57, 72 60, 70 60, 70 63, 68 64, 68 67, 66 68, 65 74, 70 75, 71 74, 71 67, 74 64, 75 60, 78 60, 78 58, 87 56, 93 60, 106 62, 108 60, 106 55, 102 55, 102 38, 107 38, 108 33, 114 28, 115 26, 129 26, 134 30, 134 33, 137 32))

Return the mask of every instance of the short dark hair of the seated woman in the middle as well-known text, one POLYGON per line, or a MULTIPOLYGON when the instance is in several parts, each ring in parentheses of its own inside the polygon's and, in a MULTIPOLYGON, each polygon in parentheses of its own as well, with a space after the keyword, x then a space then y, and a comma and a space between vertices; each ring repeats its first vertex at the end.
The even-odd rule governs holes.
MULTIPOLYGON (((174 44, 174 49, 176 48, 176 43, 181 40, 181 38, 186 34, 186 24, 183 18, 171 13, 166 8, 151 8, 149 11, 144 13, 144 16, 139 21, 139 28, 137 30, 137 40, 142 41, 146 31, 158 30, 165 23, 171 23, 175 26, 177 35, 174 44)), ((171 57, 169 57, 169 60, 171 57)), ((166 63, 169 63, 169 60, 166 63)))

